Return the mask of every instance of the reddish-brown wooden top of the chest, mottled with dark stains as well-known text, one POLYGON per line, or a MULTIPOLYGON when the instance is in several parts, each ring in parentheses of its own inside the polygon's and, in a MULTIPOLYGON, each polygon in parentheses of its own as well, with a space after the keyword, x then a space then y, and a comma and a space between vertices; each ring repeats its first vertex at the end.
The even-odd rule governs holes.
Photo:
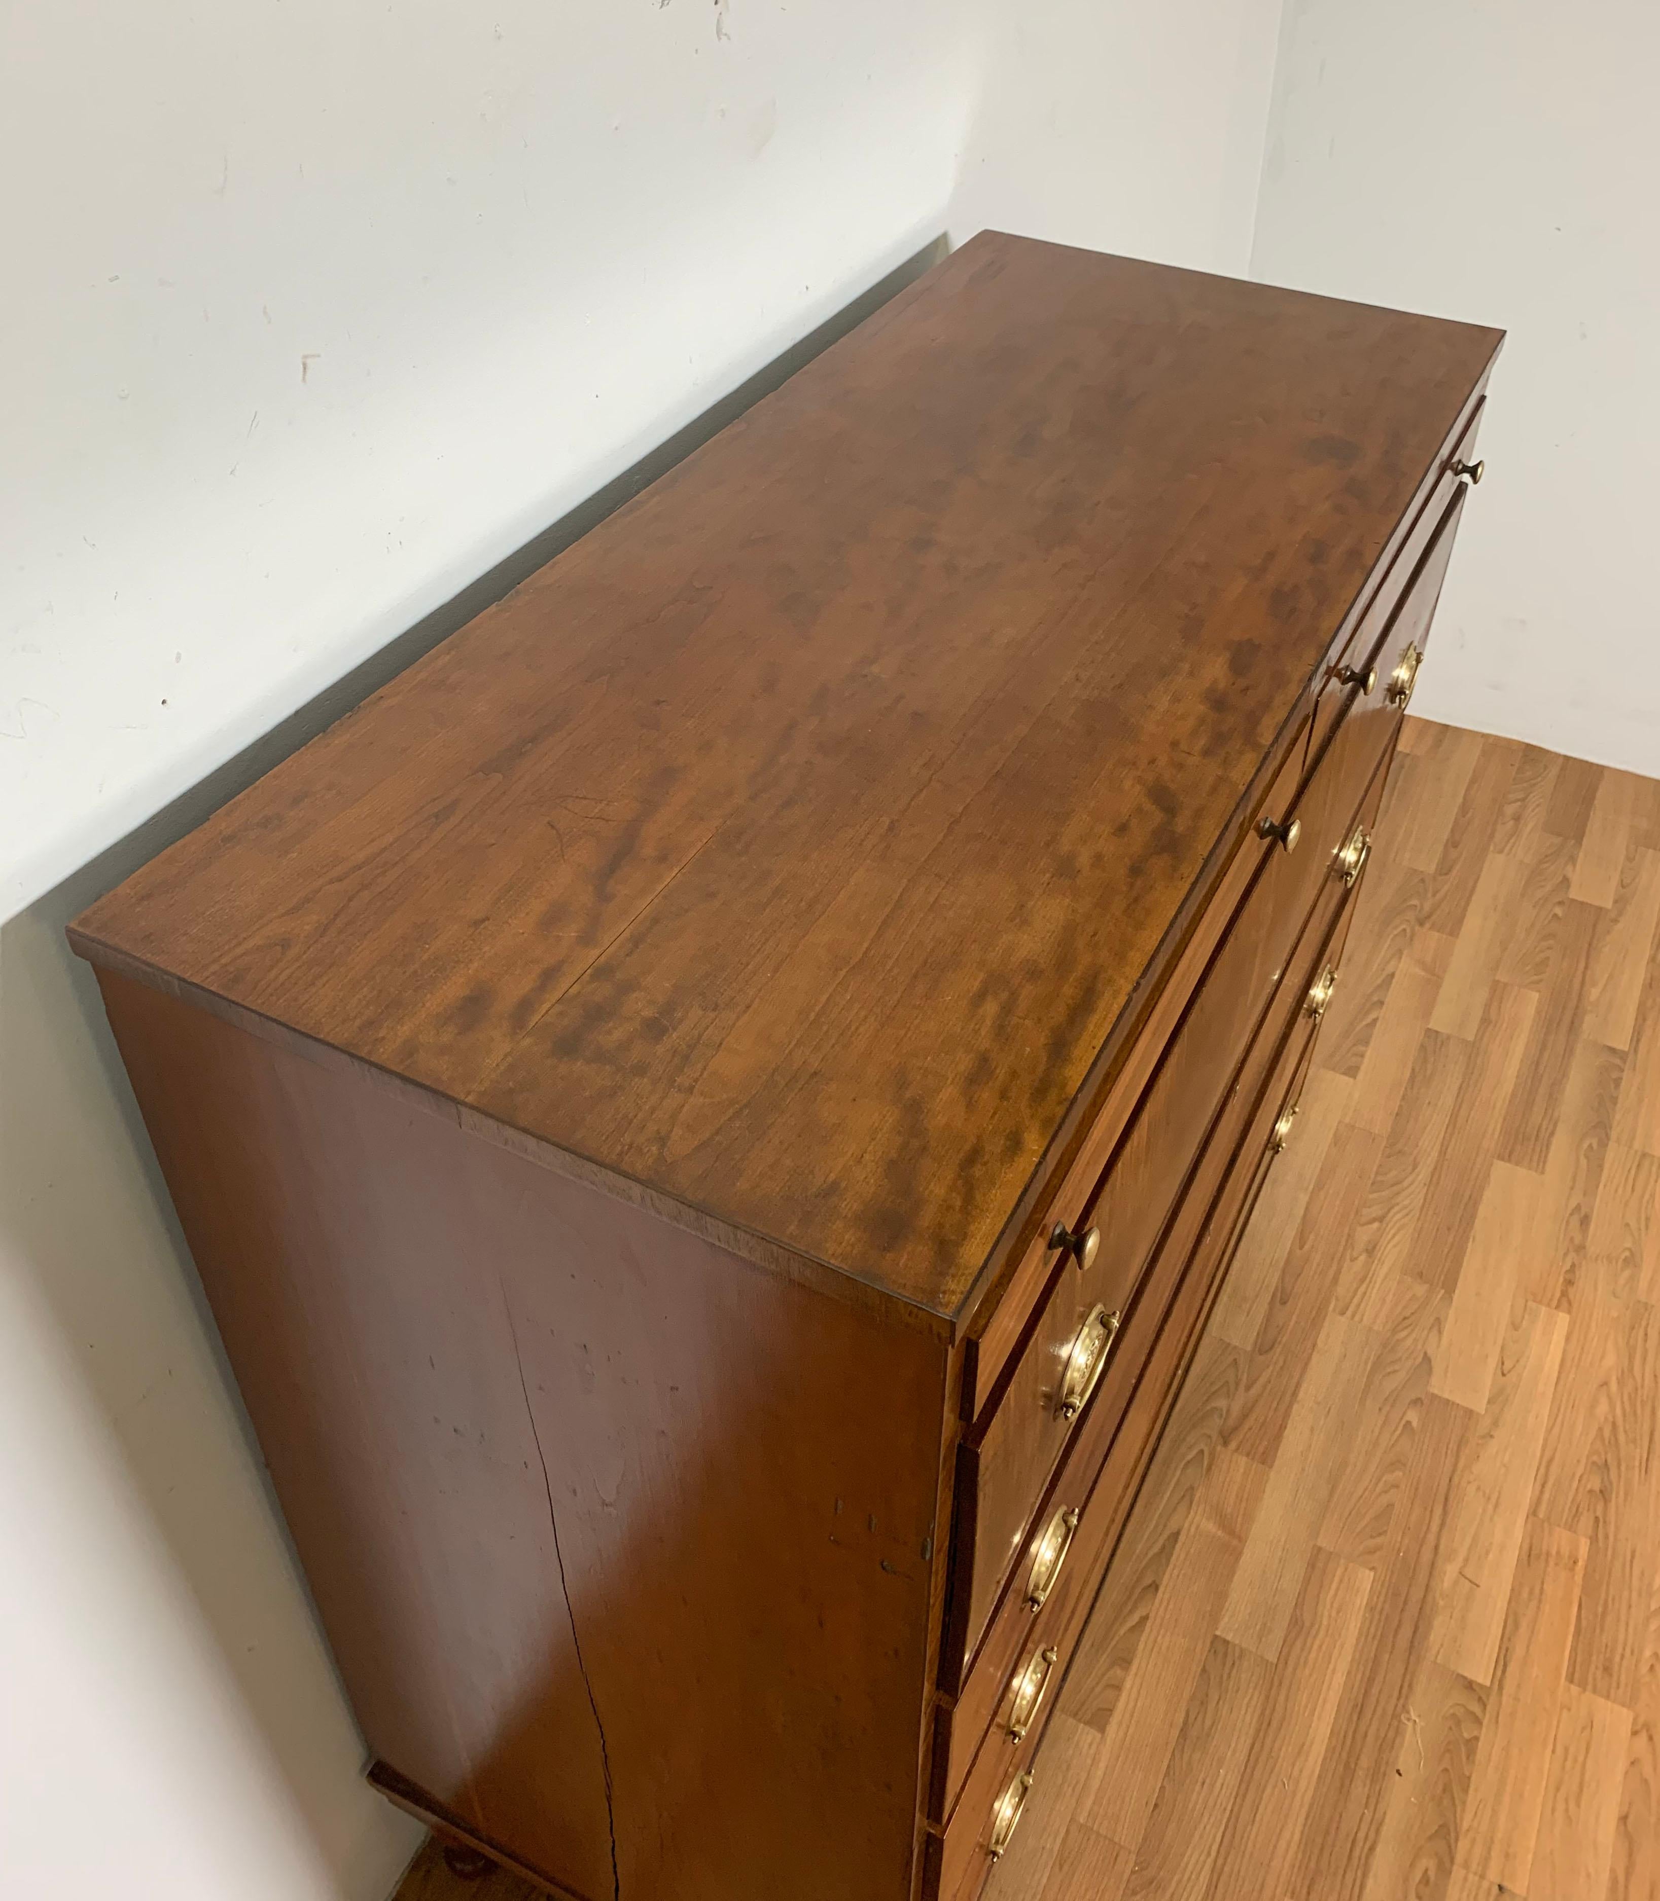
POLYGON ((1498 342, 975 238, 76 947, 960 1319, 1498 342))

